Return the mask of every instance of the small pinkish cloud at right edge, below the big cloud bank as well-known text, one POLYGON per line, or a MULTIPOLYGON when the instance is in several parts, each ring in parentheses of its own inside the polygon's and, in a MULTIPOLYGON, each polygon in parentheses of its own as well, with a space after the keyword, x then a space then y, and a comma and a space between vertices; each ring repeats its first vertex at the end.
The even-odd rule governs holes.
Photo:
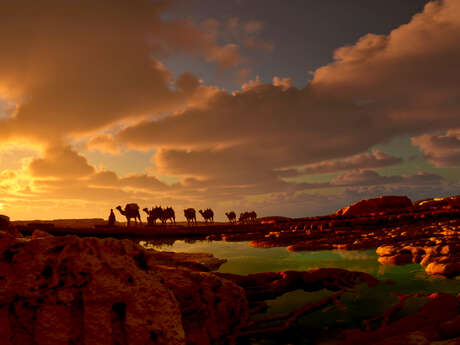
POLYGON ((424 157, 438 168, 460 166, 460 130, 449 130, 445 135, 424 134, 412 138, 412 144, 422 150, 424 157))

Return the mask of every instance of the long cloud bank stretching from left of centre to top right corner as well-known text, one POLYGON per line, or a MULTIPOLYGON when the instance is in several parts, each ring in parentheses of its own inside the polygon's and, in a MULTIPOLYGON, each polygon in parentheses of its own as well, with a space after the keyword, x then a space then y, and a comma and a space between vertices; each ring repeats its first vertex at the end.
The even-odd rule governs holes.
MULTIPOLYGON (((266 192, 292 168, 316 174, 398 164, 396 157, 362 152, 397 136, 460 126, 460 72, 449 67, 460 59, 453 13, 460 15, 458 1, 433 2, 389 35, 366 35, 338 49, 305 88, 256 78, 239 92, 214 94, 200 109, 141 122, 114 138, 131 148, 158 148, 154 160, 164 174, 234 186, 265 181, 266 192)), ((335 183, 368 184, 370 174, 335 183)))

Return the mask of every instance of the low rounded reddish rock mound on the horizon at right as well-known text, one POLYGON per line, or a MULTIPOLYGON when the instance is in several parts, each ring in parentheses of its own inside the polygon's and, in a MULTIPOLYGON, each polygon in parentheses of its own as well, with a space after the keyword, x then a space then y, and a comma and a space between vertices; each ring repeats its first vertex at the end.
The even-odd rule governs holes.
POLYGON ((380 196, 358 201, 353 205, 338 210, 336 214, 356 217, 388 210, 404 210, 411 207, 412 201, 407 196, 380 196))

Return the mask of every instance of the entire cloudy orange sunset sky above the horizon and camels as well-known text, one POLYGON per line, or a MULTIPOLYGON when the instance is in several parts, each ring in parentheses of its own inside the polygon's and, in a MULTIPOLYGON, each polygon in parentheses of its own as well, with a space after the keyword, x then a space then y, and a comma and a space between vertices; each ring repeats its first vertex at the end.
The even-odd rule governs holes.
POLYGON ((459 41, 460 0, 3 0, 0 213, 460 194, 459 41))

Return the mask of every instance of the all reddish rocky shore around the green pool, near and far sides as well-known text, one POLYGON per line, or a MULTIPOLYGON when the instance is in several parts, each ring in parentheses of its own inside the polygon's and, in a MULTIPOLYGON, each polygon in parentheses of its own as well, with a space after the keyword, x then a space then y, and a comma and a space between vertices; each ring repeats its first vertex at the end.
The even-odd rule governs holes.
MULTIPOLYGON (((325 217, 227 227, 224 233, 216 228, 207 238, 292 251, 377 248, 382 264, 418 263, 428 274, 458 276, 458 198, 411 206, 391 198, 365 200, 325 217)), ((0 231, 0 339, 5 345, 245 344, 251 337, 283 334, 317 311, 347 313, 344 294, 359 299, 357 287, 391 283, 337 268, 213 272, 223 262, 211 254, 146 250, 129 239, 55 237, 40 230, 24 237, 10 226, 0 231), (330 294, 286 314, 263 316, 267 300, 295 290, 330 294)), ((360 328, 341 329, 339 344, 460 344, 460 291, 397 298, 381 315, 361 320, 360 328), (414 300, 420 308, 398 316, 414 300)))

